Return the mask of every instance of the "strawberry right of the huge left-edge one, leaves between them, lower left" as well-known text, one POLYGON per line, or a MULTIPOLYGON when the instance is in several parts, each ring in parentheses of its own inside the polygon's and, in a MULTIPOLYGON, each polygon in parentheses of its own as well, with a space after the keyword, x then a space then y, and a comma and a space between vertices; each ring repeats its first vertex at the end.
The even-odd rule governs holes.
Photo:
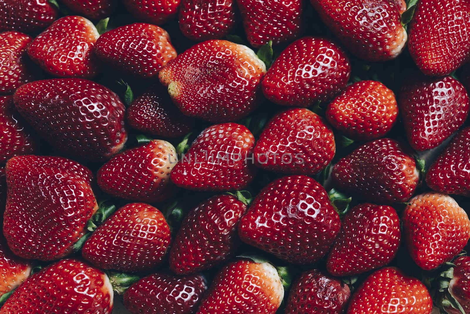
POLYGON ((119 208, 94 231, 82 256, 102 269, 150 271, 161 263, 170 241, 163 214, 148 204, 132 203, 119 208))

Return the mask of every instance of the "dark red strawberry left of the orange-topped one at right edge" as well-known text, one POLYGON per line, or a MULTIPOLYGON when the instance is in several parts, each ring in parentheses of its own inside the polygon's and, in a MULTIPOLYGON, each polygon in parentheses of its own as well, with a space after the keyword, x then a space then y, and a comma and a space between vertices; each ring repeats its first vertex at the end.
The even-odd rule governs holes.
POLYGON ((383 267, 400 245, 400 220, 390 207, 354 206, 341 223, 341 231, 329 251, 327 269, 334 276, 359 275, 383 267))

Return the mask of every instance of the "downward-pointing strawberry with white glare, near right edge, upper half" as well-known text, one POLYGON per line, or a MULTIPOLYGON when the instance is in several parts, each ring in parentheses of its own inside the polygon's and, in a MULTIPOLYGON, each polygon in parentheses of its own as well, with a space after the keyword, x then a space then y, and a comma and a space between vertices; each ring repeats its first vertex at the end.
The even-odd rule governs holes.
POLYGON ((416 150, 441 144, 465 122, 470 101, 456 79, 409 78, 401 87, 399 105, 408 141, 416 150))

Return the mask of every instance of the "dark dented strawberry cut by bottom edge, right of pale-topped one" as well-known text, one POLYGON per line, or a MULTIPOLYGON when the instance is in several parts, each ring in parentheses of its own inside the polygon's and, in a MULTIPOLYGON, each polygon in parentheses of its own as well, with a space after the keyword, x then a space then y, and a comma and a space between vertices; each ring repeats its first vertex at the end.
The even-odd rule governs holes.
POLYGON ((285 314, 343 314, 350 296, 341 280, 314 269, 300 275, 290 288, 285 314))

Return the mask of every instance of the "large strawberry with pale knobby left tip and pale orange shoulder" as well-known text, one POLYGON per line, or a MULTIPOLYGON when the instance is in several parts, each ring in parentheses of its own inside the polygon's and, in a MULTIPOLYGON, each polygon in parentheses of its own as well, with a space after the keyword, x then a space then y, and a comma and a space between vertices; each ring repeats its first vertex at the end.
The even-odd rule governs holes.
POLYGON ((185 115, 227 122, 255 109, 265 72, 265 64, 250 48, 208 40, 177 56, 159 77, 185 115))

